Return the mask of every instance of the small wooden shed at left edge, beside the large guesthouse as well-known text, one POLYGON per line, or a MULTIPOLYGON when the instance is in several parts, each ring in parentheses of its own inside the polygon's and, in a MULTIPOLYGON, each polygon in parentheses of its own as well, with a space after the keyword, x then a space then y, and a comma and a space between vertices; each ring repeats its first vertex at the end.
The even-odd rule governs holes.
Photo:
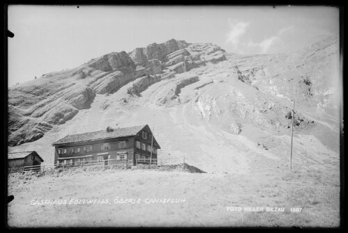
MULTIPOLYGON (((23 168, 24 166, 38 166, 44 160, 35 151, 8 153, 8 168, 23 168)), ((38 166, 40 168, 40 166, 38 166)))

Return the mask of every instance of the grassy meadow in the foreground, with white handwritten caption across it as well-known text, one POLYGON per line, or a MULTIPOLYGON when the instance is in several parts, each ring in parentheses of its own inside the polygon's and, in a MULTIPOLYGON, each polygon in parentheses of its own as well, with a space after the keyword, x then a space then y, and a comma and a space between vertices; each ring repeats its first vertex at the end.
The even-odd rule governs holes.
POLYGON ((280 226, 338 227, 339 174, 280 172, 200 174, 154 170, 75 170, 10 175, 10 227, 280 226), (139 203, 115 203, 120 199, 139 203), (184 200, 152 202, 150 199, 184 200), (70 200, 108 200, 69 204, 70 200), (31 204, 66 200, 67 204, 31 204), (227 211, 227 207, 284 207, 284 212, 227 211), (290 208, 300 207, 301 212, 290 208))

